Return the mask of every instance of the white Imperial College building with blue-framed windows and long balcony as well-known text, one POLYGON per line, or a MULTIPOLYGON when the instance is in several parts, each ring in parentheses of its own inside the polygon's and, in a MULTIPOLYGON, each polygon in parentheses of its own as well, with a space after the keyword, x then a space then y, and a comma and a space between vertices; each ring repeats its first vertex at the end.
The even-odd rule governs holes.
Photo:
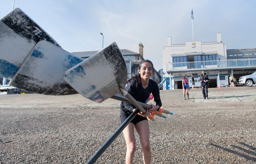
MULTIPOLYGON (((243 50, 246 51, 246 49, 243 50)), ((256 49, 250 50, 256 52, 256 49)), ((240 51, 228 52, 239 53, 240 51)), ((248 58, 238 58, 238 55, 236 55, 237 58, 227 58, 230 54, 227 55, 226 45, 222 43, 220 33, 217 33, 217 42, 207 43, 192 41, 173 45, 171 37, 168 37, 167 46, 164 47, 162 54, 163 76, 167 78, 163 89, 180 89, 184 75, 188 78, 191 75, 199 78, 203 70, 210 79, 209 87, 226 86, 229 84, 230 74, 239 78, 235 75, 249 74, 256 69, 256 59, 252 58, 253 56, 250 56, 250 59, 248 55, 246 56, 248 58), (245 70, 247 72, 244 72, 245 70)))

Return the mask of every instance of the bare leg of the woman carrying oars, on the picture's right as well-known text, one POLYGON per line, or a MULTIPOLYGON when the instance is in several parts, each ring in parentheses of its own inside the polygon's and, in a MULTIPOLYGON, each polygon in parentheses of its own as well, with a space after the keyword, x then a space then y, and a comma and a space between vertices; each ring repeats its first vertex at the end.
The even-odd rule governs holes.
POLYGON ((148 120, 143 120, 135 125, 135 129, 140 137, 140 143, 142 145, 143 161, 144 164, 150 164, 151 162, 151 150, 149 142, 149 124, 148 120))

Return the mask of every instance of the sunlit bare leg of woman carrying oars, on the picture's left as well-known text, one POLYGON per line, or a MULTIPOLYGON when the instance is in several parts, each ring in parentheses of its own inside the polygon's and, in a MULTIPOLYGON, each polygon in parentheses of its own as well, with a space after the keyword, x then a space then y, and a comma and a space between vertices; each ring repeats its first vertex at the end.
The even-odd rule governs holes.
POLYGON ((135 147, 134 125, 129 123, 123 130, 124 139, 126 141, 126 164, 133 164, 135 147))

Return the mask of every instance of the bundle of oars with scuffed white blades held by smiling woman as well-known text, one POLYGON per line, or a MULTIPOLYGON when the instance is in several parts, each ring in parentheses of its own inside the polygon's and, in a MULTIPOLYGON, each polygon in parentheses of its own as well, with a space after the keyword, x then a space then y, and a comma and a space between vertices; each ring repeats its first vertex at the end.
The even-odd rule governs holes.
MULTIPOLYGON (((11 80, 11 86, 46 95, 80 93, 98 103, 113 98, 131 103, 137 108, 92 156, 88 164, 100 157, 139 111, 146 113, 146 109, 152 108, 146 104, 149 100, 145 103, 137 102, 126 91, 126 62, 116 43, 84 60, 62 49, 18 8, 3 17, 0 26, 0 76, 11 80)), ((173 114, 168 112, 160 108, 156 115, 164 117, 162 113, 173 114)))

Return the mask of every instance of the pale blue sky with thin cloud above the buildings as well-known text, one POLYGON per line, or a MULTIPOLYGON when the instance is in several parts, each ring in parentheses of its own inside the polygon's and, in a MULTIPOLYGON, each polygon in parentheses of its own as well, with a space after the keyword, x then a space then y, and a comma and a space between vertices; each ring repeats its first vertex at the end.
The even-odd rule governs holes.
MULTIPOLYGON (((0 0, 0 17, 13 0, 0 0)), ((93 51, 116 42, 120 49, 139 52, 162 69, 162 49, 194 40, 222 42, 227 49, 256 48, 255 0, 15 0, 39 26, 69 52, 93 51)))

